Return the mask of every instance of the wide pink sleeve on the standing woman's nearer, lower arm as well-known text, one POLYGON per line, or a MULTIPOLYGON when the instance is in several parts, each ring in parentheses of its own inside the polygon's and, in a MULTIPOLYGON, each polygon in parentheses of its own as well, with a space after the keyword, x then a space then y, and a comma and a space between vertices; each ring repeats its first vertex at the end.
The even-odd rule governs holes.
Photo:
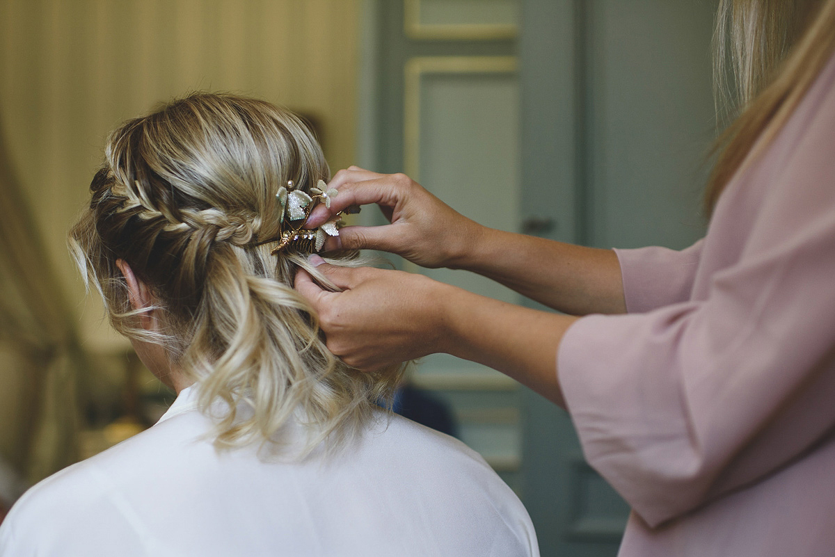
MULTIPOLYGON (((828 90, 815 113, 793 117, 802 133, 729 186, 746 203, 745 188, 763 190, 756 211, 741 203, 750 231, 738 257, 705 278, 703 296, 683 296, 687 273, 671 273, 669 289, 655 284, 657 294, 650 282, 627 284, 637 293, 630 309, 651 311, 579 319, 560 345, 559 380, 584 454, 650 526, 766 479, 835 428, 835 87, 828 90)), ((736 208, 719 209, 725 231, 739 228, 736 208)), ((724 242, 715 224, 700 266, 708 246, 724 242)))

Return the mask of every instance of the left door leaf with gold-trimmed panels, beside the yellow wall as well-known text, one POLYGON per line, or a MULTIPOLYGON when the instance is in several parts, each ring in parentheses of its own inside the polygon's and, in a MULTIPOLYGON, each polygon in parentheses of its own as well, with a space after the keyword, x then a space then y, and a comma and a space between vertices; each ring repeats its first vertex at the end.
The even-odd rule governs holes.
MULTIPOLYGON (((461 213, 494 228, 519 228, 517 0, 372 3, 377 88, 369 105, 376 166, 406 172, 461 213)), ((367 120, 360 115, 360 120, 367 120)), ((360 139, 362 144, 369 142, 360 139)), ((363 213, 365 223, 373 219, 363 213)), ((379 218, 379 217, 378 217, 379 218)), ((379 221, 377 221, 379 222, 379 221)), ((423 269, 478 294, 517 303, 499 284, 463 271, 423 269)), ((521 468, 519 385, 492 369, 435 354, 412 382, 447 402, 459 436, 514 489, 521 468)))

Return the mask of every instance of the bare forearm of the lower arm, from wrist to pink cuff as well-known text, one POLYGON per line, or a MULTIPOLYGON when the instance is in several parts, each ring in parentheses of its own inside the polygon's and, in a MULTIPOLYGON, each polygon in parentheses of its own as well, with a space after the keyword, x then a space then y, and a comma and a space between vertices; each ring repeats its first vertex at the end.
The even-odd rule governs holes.
POLYGON ((440 351, 512 377, 564 405, 556 373, 559 343, 578 318, 551 314, 446 287, 440 351))

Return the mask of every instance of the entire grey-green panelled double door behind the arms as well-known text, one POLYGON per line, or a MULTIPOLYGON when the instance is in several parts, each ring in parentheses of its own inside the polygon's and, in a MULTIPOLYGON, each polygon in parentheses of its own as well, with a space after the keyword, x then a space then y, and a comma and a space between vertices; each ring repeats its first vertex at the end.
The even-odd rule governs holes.
MULTIPOLYGON (((703 233, 713 135, 703 0, 365 0, 358 162, 494 228, 600 247, 703 233)), ((372 211, 362 213, 373 223, 372 211)), ((472 273, 415 272, 515 303, 472 273)), ((533 305, 533 304, 531 304, 533 305)), ((628 506, 564 412, 443 356, 415 382, 522 497, 543 555, 615 555, 628 506)))

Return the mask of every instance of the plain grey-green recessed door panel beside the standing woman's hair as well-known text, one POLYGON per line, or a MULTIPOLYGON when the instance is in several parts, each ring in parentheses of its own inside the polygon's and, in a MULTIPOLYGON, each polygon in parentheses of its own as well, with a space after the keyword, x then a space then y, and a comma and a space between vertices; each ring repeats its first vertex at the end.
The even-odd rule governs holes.
POLYGON ((714 136, 713 5, 596 0, 584 17, 586 240, 601 248, 701 238, 714 136))

